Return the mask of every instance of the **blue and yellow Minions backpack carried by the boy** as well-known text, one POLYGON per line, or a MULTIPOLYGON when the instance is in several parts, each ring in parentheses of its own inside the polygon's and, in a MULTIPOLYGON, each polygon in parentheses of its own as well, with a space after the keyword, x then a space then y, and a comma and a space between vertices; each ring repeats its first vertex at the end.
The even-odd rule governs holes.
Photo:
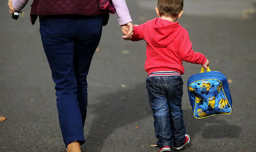
POLYGON ((227 77, 209 67, 204 72, 189 77, 188 93, 190 104, 197 119, 216 115, 229 115, 232 112, 232 98, 227 77))

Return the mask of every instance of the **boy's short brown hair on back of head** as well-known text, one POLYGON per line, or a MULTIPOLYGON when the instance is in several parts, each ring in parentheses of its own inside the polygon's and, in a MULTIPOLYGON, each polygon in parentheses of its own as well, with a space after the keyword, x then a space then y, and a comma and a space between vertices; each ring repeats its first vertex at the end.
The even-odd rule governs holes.
POLYGON ((158 0, 160 16, 175 18, 183 10, 183 0, 158 0))

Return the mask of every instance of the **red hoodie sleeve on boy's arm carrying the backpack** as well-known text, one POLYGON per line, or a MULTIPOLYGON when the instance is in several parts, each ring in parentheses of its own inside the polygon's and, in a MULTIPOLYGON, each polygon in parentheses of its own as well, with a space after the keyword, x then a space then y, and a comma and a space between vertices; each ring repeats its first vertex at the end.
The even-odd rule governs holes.
POLYGON ((194 52, 192 49, 192 43, 189 40, 189 34, 184 29, 184 33, 180 36, 179 42, 179 56, 180 58, 192 64, 204 65, 207 61, 205 55, 202 53, 194 52))

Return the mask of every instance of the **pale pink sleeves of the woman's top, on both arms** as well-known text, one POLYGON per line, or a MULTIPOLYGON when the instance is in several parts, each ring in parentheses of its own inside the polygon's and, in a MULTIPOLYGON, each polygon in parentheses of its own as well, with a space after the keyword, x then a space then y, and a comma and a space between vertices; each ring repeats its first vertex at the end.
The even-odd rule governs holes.
MULTIPOLYGON (((20 11, 27 5, 28 1, 29 0, 13 0, 13 8, 20 11)), ((119 25, 124 25, 131 22, 131 16, 125 0, 112 0, 112 2, 116 8, 119 25)))

